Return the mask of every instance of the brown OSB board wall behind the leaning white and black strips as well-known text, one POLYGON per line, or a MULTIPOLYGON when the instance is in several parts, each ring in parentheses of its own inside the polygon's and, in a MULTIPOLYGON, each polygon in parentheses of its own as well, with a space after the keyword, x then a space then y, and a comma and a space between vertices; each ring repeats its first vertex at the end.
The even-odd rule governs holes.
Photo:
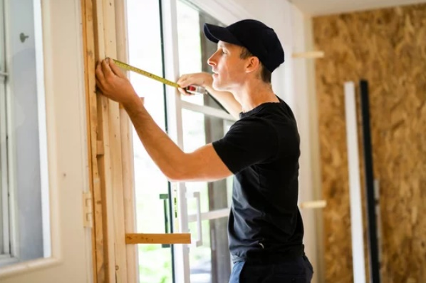
POLYGON ((380 180, 382 282, 424 283, 426 5, 321 16, 313 35, 326 53, 316 61, 326 282, 353 282, 343 83, 363 78, 380 180))

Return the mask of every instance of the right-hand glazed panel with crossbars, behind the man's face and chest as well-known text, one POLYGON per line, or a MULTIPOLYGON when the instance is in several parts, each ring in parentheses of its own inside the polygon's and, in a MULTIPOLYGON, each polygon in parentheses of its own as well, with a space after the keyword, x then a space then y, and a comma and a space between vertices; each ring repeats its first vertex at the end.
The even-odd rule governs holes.
MULTIPOLYGON (((217 50, 217 45, 208 41, 202 32, 205 22, 222 25, 211 16, 199 11, 185 1, 177 1, 177 31, 179 41, 180 73, 206 71, 211 73, 207 58, 217 50)), ((185 151, 192 151, 206 143, 224 136, 232 124, 232 118, 223 118, 226 113, 208 95, 184 96, 182 103, 182 127, 185 151), (195 105, 194 105, 195 104, 195 105), (214 115, 215 110, 222 115, 214 115)), ((188 200, 189 231, 195 240, 202 239, 199 247, 189 249, 190 280, 192 283, 227 282, 231 272, 228 250, 227 217, 229 195, 232 194, 232 177, 217 182, 188 182, 188 192, 199 192, 197 199, 188 200), (197 220, 197 209, 202 219, 197 220), (197 222, 201 221, 201 231, 197 222), (202 233, 199 237, 198 233, 202 233)), ((188 194, 187 192, 187 194, 188 194)), ((190 195, 190 194, 189 194, 190 195)))

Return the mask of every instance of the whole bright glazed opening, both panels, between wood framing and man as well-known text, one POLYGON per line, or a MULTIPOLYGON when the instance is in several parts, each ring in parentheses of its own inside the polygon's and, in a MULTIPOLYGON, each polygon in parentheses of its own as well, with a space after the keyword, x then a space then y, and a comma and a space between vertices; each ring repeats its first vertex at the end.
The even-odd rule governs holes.
MULTIPOLYGON (((175 46, 165 46, 161 1, 127 2, 131 65, 160 76, 165 76, 165 63, 178 65, 180 74, 211 71, 207 58, 217 46, 204 38, 202 26, 206 21, 220 24, 219 21, 188 2, 176 1, 177 41, 175 46), (170 60, 165 58, 165 48, 179 50, 176 61, 165 62, 170 60)), ((183 140, 182 149, 186 152, 222 138, 234 122, 208 95, 182 97, 176 110, 179 117, 172 116, 174 114, 167 110, 171 102, 165 95, 170 86, 135 73, 130 73, 130 81, 137 93, 145 97, 145 107, 163 130, 167 132, 170 121, 180 123, 177 139, 183 140)), ((191 232, 194 243, 189 246, 139 245, 140 282, 189 282, 189 279, 192 283, 226 282, 231 271, 227 217, 232 177, 218 182, 170 184, 135 133, 133 142, 137 232, 191 232), (185 197, 185 212, 174 213, 175 197, 185 197), (182 216, 176 219, 177 215, 182 216), (184 268, 175 268, 177 264, 184 268)))

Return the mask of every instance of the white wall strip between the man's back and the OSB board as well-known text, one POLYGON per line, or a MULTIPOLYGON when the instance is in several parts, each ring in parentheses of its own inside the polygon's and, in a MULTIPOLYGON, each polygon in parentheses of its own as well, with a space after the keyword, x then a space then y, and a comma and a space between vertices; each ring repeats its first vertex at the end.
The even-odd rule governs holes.
MULTIPOLYGON (((284 48, 285 62, 272 76, 274 92, 291 106, 301 135, 299 170, 299 202, 321 198, 318 163, 318 123, 314 90, 313 61, 293 59, 292 53, 311 51, 311 19, 289 1, 234 0, 254 19, 270 26, 284 48)), ((321 210, 302 210, 305 227, 305 252, 314 267, 312 282, 322 279, 322 217, 321 210)))

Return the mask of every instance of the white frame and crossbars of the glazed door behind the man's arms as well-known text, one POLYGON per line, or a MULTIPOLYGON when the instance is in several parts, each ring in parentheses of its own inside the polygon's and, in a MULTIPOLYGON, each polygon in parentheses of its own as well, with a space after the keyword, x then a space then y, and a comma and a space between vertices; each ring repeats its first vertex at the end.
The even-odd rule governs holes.
MULTIPOLYGON (((178 53, 178 38, 177 38, 177 1, 170 0, 162 1, 162 26, 164 34, 165 48, 165 77, 179 78, 179 53, 178 53)), ((251 18, 250 14, 243 9, 227 9, 229 7, 240 7, 234 1, 227 1, 223 4, 218 0, 200 1, 200 0, 185 0, 189 4, 197 6, 197 8, 215 17, 218 21, 224 24, 232 24, 239 19, 251 18), (232 13, 230 11, 233 11, 232 13)), ((224 110, 212 108, 210 106, 200 106, 198 104, 182 101, 180 96, 176 95, 176 90, 172 88, 166 89, 166 105, 167 105, 167 123, 170 137, 175 140, 180 148, 183 148, 183 131, 182 131, 182 110, 195 110, 204 115, 222 118, 224 120, 236 120, 224 110)), ((173 185, 175 196, 177 197, 177 217, 181 220, 179 223, 179 231, 187 232, 189 230, 189 220, 193 220, 193 215, 188 215, 187 212, 187 188, 185 182, 175 183, 173 185)), ((225 215, 224 210, 219 212, 202 213, 202 220, 209 220, 211 217, 225 215)), ((195 217, 197 218, 197 217, 195 217)), ((177 283, 189 282, 190 267, 189 267, 189 247, 187 245, 175 245, 175 280, 177 283), (182 259, 182 260, 180 260, 182 259)))

